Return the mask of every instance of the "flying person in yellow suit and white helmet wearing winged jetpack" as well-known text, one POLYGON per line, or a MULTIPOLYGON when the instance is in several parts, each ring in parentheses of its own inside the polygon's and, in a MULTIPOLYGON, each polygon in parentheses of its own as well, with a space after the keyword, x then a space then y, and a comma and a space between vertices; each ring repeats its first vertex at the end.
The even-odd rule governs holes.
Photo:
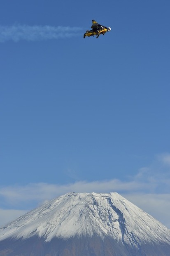
POLYGON ((100 34, 104 36, 107 31, 111 31, 110 27, 107 28, 105 26, 102 26, 98 24, 97 21, 95 21, 94 19, 92 19, 91 28, 91 30, 86 30, 86 33, 84 33, 84 38, 86 36, 96 36, 96 38, 98 38, 100 34))

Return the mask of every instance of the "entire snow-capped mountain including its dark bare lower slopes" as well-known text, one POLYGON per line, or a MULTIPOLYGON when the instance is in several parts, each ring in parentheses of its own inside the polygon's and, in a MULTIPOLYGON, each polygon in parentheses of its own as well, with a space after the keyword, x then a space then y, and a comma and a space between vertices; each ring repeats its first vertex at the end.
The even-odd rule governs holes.
POLYGON ((19 254, 168 256, 170 230, 117 193, 71 192, 0 229, 0 256, 19 254))

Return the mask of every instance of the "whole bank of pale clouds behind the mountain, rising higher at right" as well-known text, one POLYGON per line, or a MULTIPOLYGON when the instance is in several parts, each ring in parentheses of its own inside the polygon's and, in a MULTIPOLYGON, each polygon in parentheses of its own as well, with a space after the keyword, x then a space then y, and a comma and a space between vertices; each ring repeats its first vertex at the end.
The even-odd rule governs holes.
POLYGON ((30 183, 25 186, 0 187, 0 207, 1 209, 7 208, 6 210, 9 211, 5 218, 4 210, 0 210, 0 216, 3 216, 0 225, 13 219, 12 211, 28 211, 49 199, 74 191, 119 192, 170 228, 168 216, 170 212, 169 159, 170 154, 160 154, 149 166, 140 168, 134 177, 126 177, 126 180, 80 180, 63 185, 30 183))

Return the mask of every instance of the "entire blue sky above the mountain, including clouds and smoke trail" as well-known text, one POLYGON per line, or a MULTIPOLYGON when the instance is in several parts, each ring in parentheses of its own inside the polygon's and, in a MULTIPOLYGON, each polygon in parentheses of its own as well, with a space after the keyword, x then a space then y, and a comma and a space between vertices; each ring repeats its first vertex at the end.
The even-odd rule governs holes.
POLYGON ((1 0, 0 225, 116 191, 170 228, 170 2, 1 0), (95 19, 112 30, 83 38, 95 19))

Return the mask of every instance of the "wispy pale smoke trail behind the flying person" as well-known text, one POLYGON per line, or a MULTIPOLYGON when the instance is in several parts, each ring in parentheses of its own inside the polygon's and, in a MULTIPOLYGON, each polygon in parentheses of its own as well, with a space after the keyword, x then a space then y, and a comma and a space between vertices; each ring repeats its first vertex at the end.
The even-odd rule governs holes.
POLYGON ((58 38, 69 38, 79 35, 82 28, 69 26, 28 26, 15 24, 12 26, 0 26, 0 42, 8 40, 38 41, 58 38))

